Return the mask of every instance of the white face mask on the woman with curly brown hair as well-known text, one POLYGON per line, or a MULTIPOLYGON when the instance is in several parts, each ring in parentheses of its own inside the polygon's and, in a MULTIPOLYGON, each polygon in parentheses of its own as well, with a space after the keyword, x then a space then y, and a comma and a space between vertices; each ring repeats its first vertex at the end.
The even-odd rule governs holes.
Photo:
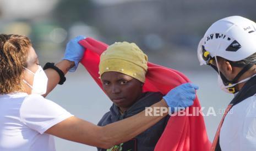
POLYGON ((45 71, 43 71, 42 67, 39 66, 39 68, 37 69, 37 71, 35 73, 30 71, 28 68, 25 68, 25 69, 27 71, 29 71, 30 73, 34 74, 33 85, 30 85, 28 82, 23 80, 23 82, 28 84, 29 87, 32 89, 31 93, 39 94, 39 95, 45 94, 46 90, 47 90, 48 78, 47 78, 47 75, 45 74, 45 71))

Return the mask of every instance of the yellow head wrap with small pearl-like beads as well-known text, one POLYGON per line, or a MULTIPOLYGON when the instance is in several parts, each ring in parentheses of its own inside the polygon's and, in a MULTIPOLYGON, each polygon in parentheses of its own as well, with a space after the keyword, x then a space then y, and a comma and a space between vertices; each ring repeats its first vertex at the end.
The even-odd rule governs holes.
POLYGON ((100 77, 108 71, 121 72, 145 82, 148 56, 135 43, 118 42, 110 45, 100 56, 100 77))

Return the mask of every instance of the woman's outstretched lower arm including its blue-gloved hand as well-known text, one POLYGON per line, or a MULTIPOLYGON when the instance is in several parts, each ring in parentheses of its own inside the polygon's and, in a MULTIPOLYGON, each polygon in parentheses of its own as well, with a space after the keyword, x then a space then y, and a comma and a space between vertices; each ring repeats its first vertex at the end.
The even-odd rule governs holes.
MULTIPOLYGON (((157 107, 156 109, 169 107, 171 112, 174 112, 176 107, 189 107, 194 103, 197 89, 198 86, 190 83, 179 85, 169 91, 160 102, 150 107, 153 111, 155 107, 157 107)), ((133 117, 103 127, 72 117, 52 126, 46 133, 90 146, 110 148, 139 135, 167 114, 165 112, 162 116, 146 116, 146 112, 143 111, 133 117)))

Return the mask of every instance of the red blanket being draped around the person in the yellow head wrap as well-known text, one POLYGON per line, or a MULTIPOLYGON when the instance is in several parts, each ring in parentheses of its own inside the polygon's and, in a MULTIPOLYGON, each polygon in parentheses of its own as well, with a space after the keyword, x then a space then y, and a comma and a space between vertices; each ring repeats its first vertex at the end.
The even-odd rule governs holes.
MULTIPOLYGON (((92 38, 86 38, 79 43, 86 48, 81 63, 102 89, 98 73, 100 54, 107 49, 108 45, 92 38)), ((189 79, 181 72, 148 62, 148 72, 143 91, 161 92, 165 95, 176 86, 187 82, 189 79)), ((198 98, 195 98, 193 107, 201 108, 198 98)), ((193 113, 191 107, 188 110, 189 113, 193 113)), ((200 114, 199 116, 172 116, 156 144, 155 151, 205 151, 210 150, 210 146, 203 116, 200 114)))

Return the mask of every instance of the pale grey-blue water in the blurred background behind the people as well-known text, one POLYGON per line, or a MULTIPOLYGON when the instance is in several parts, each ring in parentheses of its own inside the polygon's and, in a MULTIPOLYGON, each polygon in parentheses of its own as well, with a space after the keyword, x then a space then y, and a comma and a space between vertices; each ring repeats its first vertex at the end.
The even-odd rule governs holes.
MULTIPOLYGON (((208 117, 204 117, 209 140, 213 141, 217 126, 222 117, 222 114, 219 112, 221 109, 225 109, 233 96, 219 89, 217 86, 217 75, 214 72, 185 70, 183 73, 193 83, 199 85, 198 97, 201 106, 205 107, 203 113, 207 114, 209 108, 214 109, 216 113, 216 116, 211 114, 208 117)), ((77 72, 68 73, 66 83, 58 85, 47 98, 58 103, 76 117, 88 120, 94 124, 97 124, 112 104, 82 66, 79 67, 77 72)), ((55 140, 56 149, 61 151, 96 150, 95 147, 70 142, 57 137, 55 140)))

